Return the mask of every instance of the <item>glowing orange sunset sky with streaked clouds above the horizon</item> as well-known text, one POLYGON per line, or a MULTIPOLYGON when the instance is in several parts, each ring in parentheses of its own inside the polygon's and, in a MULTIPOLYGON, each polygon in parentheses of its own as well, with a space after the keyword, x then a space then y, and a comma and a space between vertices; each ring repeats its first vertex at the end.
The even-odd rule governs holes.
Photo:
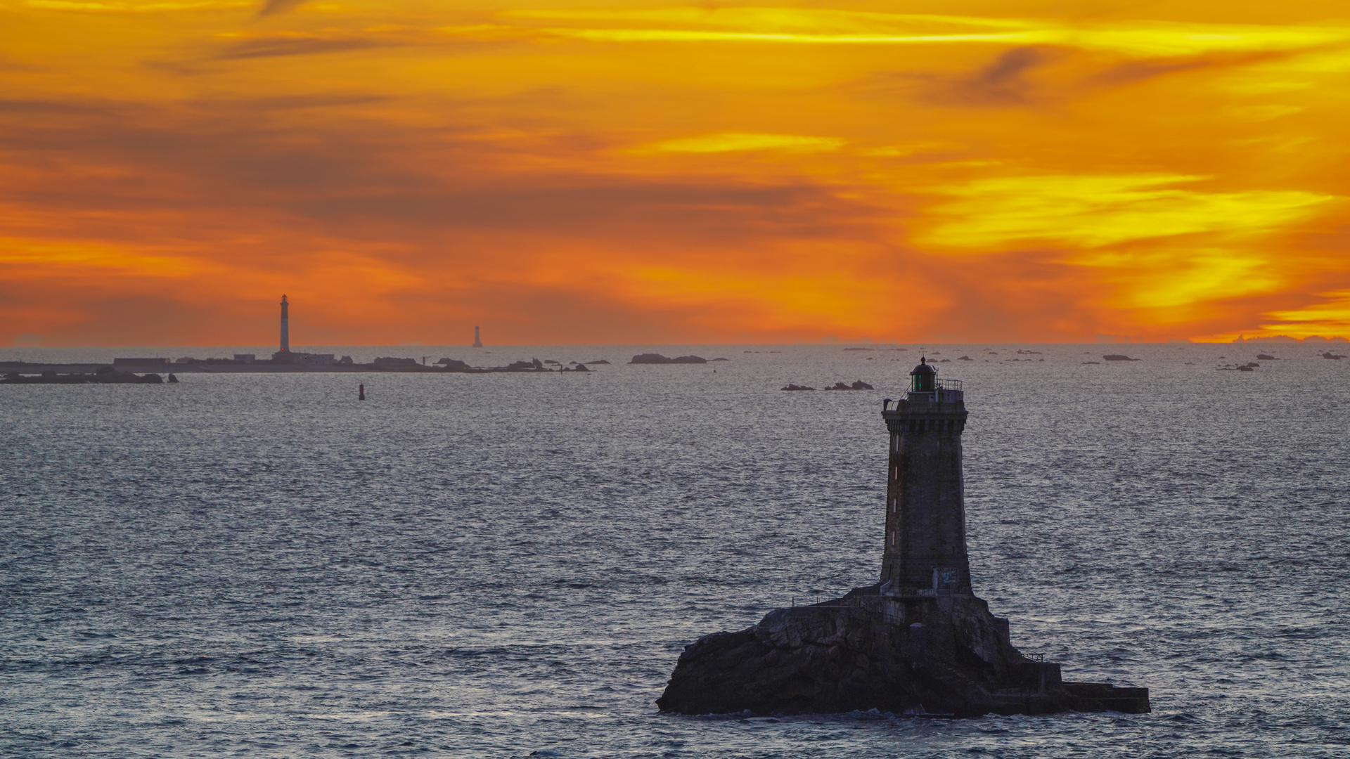
POLYGON ((1350 335, 1343 0, 0 0, 0 344, 269 343, 282 292, 297 346, 1350 335))

